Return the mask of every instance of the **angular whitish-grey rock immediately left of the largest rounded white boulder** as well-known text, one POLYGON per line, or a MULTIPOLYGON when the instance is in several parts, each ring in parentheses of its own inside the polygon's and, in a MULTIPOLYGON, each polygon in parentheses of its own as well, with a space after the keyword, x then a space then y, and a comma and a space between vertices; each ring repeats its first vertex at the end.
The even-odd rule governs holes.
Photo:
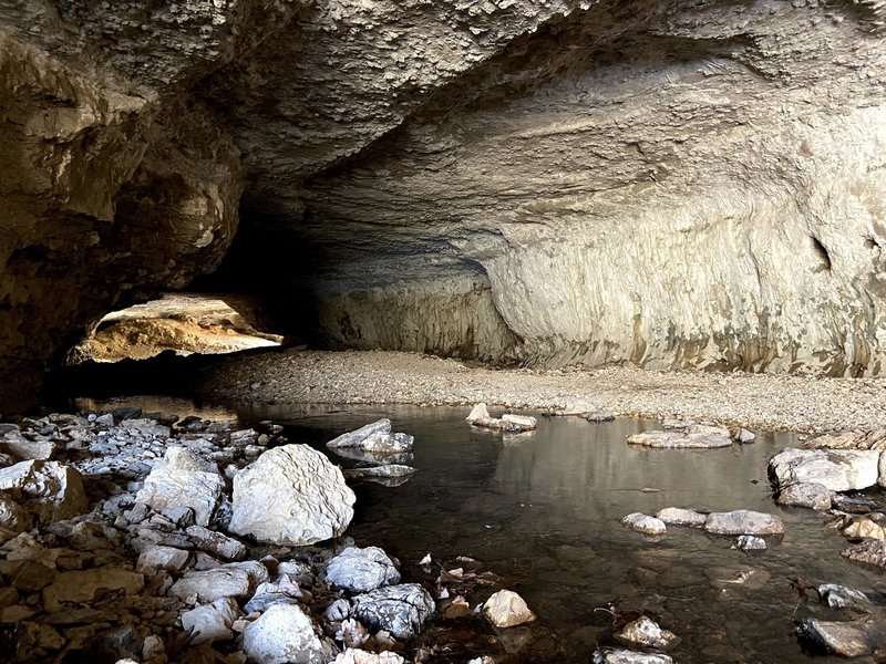
POLYGON ((208 526, 224 488, 225 480, 215 464, 184 447, 169 447, 145 478, 136 500, 158 511, 190 508, 197 525, 208 526))

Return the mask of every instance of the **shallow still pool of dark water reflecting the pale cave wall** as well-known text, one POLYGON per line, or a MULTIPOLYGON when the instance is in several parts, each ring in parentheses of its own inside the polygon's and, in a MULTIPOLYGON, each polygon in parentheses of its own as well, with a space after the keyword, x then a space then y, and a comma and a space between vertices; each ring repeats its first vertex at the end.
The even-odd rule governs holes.
POLYGON ((540 417, 534 434, 506 437, 471 427, 454 408, 264 406, 238 415, 272 418, 287 426, 290 442, 322 449, 382 416, 415 436, 410 464, 418 474, 395 488, 358 486, 347 535, 404 561, 429 552, 483 561, 508 578, 566 662, 589 662, 597 642, 610 639, 608 615, 598 611, 610 602, 656 614, 682 639, 671 653, 681 663, 807 662, 793 621, 842 616, 800 601, 790 577, 886 588, 882 572, 841 557, 847 542, 824 526, 825 515, 775 505, 766 464, 796 444, 790 434, 758 432, 755 443, 725 449, 664 450, 625 442, 653 428, 652 421, 540 417), (619 523, 627 513, 669 506, 773 512, 786 533, 767 538, 766 551, 745 553, 731 548, 730 537, 671 527, 650 539, 619 523))

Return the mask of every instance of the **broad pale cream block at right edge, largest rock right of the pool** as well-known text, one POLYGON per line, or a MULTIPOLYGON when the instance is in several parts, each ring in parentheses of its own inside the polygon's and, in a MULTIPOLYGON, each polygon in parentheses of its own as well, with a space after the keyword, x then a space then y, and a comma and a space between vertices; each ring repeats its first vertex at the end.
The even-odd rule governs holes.
POLYGON ((879 453, 787 447, 769 463, 779 489, 815 483, 832 491, 866 489, 877 484, 879 453))

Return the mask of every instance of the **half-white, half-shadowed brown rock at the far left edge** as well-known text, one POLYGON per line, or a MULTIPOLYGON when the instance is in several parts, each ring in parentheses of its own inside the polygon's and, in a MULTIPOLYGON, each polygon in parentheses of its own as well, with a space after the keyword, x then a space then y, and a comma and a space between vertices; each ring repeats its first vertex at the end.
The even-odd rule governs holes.
POLYGON ((0 491, 41 523, 70 519, 89 509, 80 473, 58 461, 20 461, 1 468, 0 491))

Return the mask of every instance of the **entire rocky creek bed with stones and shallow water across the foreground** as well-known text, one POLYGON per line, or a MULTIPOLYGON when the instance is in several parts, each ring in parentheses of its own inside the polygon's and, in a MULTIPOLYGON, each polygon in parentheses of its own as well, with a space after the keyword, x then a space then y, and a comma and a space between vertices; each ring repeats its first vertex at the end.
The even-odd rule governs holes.
POLYGON ((267 403, 240 421, 127 406, 2 424, 0 653, 883 657, 886 436, 662 430, 604 411, 516 433, 532 418, 490 411, 493 428, 463 408, 267 403), (637 442, 657 436, 666 448, 637 442))

